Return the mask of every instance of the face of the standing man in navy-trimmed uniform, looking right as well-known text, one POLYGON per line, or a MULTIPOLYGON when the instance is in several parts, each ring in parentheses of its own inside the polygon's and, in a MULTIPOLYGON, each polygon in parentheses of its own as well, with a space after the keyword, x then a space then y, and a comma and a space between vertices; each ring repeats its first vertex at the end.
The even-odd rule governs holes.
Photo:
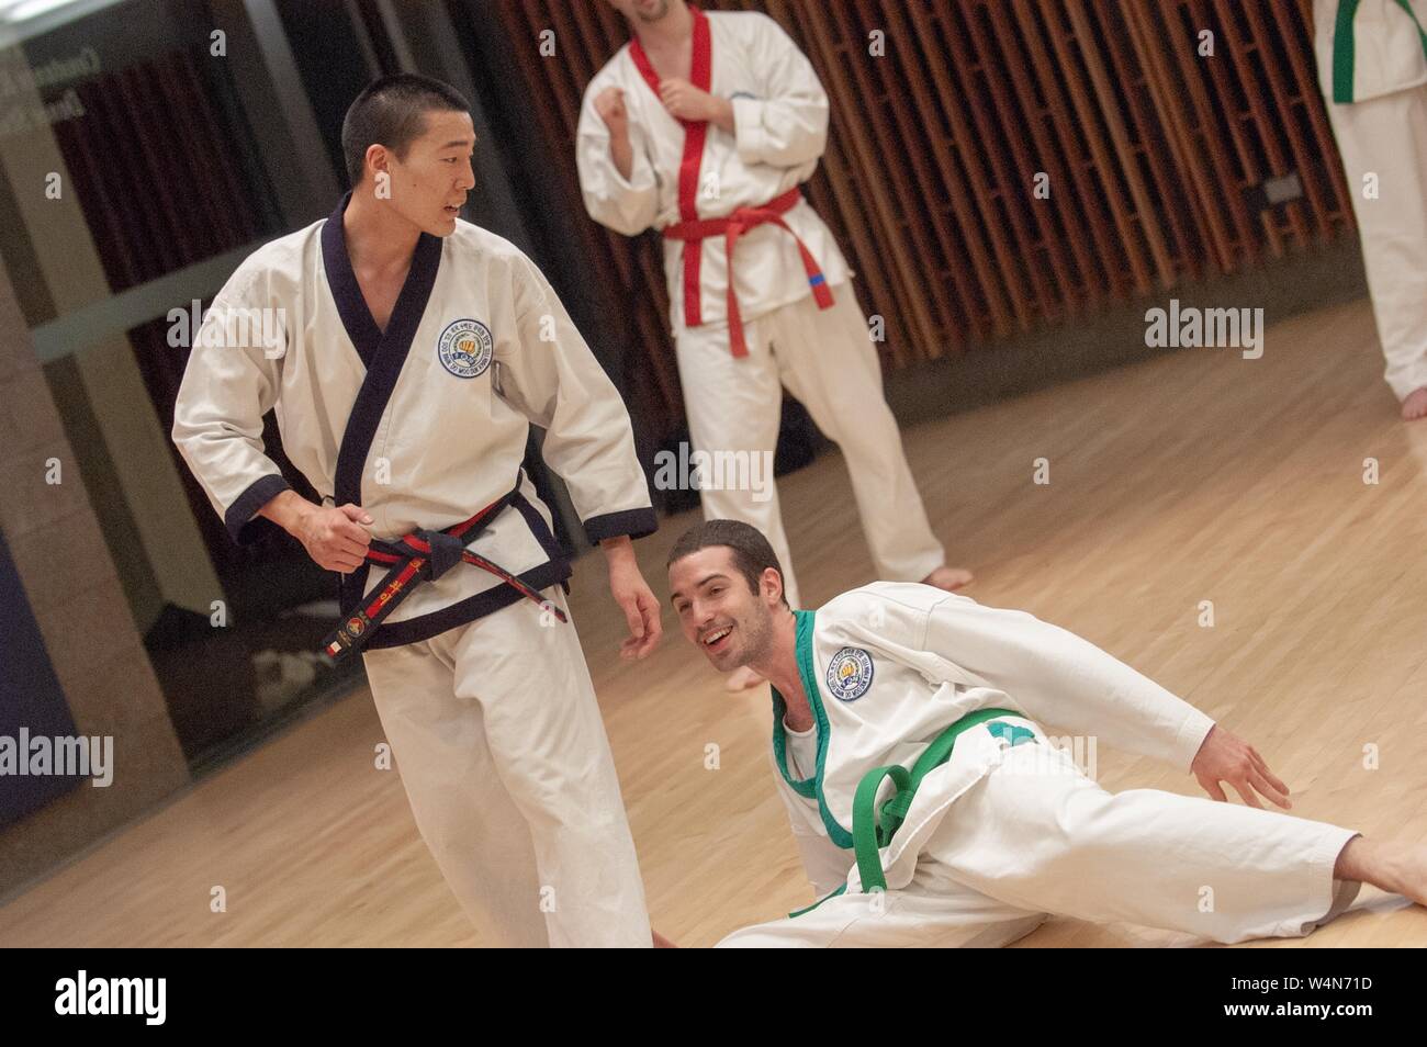
POLYGON ((385 173, 391 207, 422 233, 447 237, 455 231, 465 194, 475 187, 475 127, 469 113, 455 110, 428 110, 422 120, 422 133, 404 155, 385 145, 368 150, 367 177, 385 173))

